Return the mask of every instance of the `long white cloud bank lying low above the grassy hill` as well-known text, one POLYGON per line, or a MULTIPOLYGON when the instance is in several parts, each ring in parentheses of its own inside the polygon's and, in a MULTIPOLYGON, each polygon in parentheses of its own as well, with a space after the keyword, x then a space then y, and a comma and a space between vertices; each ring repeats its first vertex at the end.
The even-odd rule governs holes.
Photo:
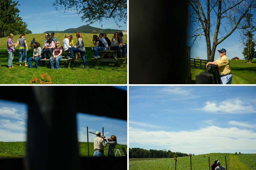
POLYGON ((227 152, 227 150, 236 152, 255 150, 256 133, 253 130, 216 126, 180 132, 146 131, 129 126, 129 144, 132 143, 193 154, 227 152))

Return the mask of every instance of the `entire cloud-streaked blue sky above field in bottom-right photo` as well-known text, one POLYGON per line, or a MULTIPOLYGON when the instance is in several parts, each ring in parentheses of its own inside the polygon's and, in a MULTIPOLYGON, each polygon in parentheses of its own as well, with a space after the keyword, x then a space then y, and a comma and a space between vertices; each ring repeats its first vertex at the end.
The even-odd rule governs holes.
POLYGON ((255 86, 129 86, 129 148, 256 153, 255 86))

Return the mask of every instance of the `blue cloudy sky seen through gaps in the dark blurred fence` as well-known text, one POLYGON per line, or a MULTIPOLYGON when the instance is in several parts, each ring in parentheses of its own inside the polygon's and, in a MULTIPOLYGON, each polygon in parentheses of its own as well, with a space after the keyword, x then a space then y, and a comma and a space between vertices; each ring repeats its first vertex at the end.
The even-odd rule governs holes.
MULTIPOLYGON (((117 86, 117 88, 127 91, 127 86, 117 86)), ((0 141, 27 141, 27 111, 28 107, 24 103, 0 100, 0 141)), ((126 120, 84 113, 77 113, 76 117, 79 142, 87 142, 88 126, 88 131, 94 133, 102 132, 104 127, 104 136, 110 138, 111 135, 115 135, 118 144, 127 145, 126 120), (96 121, 98 123, 95 123, 96 121)), ((88 137, 89 142, 93 142, 96 136, 89 133, 88 137)))

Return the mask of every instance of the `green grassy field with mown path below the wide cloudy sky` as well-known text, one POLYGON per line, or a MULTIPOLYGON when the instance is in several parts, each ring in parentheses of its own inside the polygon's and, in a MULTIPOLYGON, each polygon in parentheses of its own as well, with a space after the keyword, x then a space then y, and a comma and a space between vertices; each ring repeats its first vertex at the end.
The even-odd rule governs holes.
MULTIPOLYGON (((251 169, 256 170, 255 162, 256 162, 256 154, 225 154, 225 153, 210 153, 204 155, 195 155, 192 156, 192 169, 194 170, 208 170, 209 169, 209 160, 210 157, 210 164, 217 159, 221 162, 221 165, 226 167, 225 163, 225 156, 227 158, 227 169, 228 170, 235 170, 235 169, 251 169), (230 159, 230 157, 235 157, 238 159, 230 159), (244 162, 241 162, 241 159, 244 162), (232 166, 231 166, 232 165, 232 166), (243 168, 242 168, 243 167, 243 168)), ((139 169, 175 169, 175 160, 173 158, 165 158, 165 159, 129 159, 129 169, 130 170, 139 170, 139 169)), ((186 157, 178 157, 176 162, 176 169, 177 170, 189 170, 190 169, 190 158, 189 156, 186 157)))

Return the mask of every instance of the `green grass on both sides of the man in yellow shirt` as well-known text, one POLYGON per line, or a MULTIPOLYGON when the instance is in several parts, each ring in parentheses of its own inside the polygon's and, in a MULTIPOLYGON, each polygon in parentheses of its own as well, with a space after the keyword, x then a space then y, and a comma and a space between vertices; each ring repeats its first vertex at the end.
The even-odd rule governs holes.
MULTIPOLYGON (((231 84, 256 84, 256 59, 252 63, 247 60, 229 60, 231 65, 231 84)), ((191 84, 195 84, 195 75, 204 72, 204 69, 191 67, 191 84)))

